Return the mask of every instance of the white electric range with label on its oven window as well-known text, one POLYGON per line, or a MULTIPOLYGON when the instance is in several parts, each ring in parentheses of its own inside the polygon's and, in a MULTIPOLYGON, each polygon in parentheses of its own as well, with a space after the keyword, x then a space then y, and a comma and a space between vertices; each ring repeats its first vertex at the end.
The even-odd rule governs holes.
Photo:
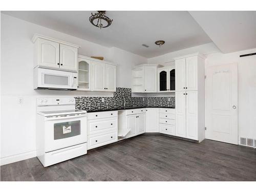
POLYGON ((87 154, 87 112, 75 109, 74 98, 38 98, 37 158, 49 166, 87 154))

